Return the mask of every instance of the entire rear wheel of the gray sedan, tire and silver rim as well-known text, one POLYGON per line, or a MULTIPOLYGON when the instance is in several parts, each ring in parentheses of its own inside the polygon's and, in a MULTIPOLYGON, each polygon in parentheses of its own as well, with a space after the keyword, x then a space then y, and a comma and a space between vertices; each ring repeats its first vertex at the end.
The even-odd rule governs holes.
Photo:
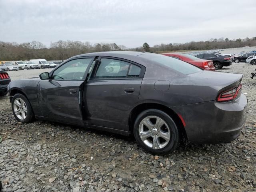
POLYGON ((168 114, 157 109, 141 112, 135 120, 133 133, 138 144, 151 154, 168 154, 179 144, 175 122, 168 114))

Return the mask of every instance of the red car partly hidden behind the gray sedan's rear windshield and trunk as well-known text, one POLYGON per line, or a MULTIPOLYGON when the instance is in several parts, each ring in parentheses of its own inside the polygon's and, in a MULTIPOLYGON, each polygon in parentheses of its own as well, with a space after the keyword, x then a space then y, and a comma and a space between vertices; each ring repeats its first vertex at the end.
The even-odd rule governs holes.
POLYGON ((198 66, 205 70, 211 70, 211 71, 215 70, 212 60, 199 59, 195 56, 184 54, 184 53, 163 53, 162 55, 166 55, 169 57, 173 57, 173 58, 188 62, 192 65, 198 66))

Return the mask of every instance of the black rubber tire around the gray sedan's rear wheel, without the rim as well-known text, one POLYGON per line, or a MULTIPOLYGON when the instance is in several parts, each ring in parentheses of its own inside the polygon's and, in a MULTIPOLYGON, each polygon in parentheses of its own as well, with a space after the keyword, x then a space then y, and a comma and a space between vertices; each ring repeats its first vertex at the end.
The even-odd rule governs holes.
POLYGON ((138 117, 136 118, 136 120, 134 122, 133 134, 134 134, 134 137, 135 137, 136 141, 138 142, 138 144, 144 150, 146 150, 154 155, 168 154, 168 153, 172 152, 173 150, 175 150, 178 147, 179 142, 180 142, 178 128, 177 128, 174 120, 172 120, 172 118, 165 112, 163 112, 161 110, 157 110, 157 109, 148 109, 148 110, 141 112, 138 115, 138 117), (140 122, 147 116, 159 117, 162 120, 164 120, 166 122, 166 124, 168 125, 169 130, 170 130, 170 140, 169 140, 168 144, 166 146, 164 146, 163 148, 154 149, 150 146, 147 146, 140 138, 139 125, 140 125, 140 122))

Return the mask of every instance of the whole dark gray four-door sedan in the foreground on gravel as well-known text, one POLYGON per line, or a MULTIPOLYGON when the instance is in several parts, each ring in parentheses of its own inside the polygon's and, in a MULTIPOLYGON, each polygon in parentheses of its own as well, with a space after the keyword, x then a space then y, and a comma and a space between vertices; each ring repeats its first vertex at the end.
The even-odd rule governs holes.
POLYGON ((230 142, 246 121, 242 74, 202 70, 145 52, 74 56, 40 78, 8 87, 15 118, 134 134, 152 154, 166 154, 182 137, 230 142))

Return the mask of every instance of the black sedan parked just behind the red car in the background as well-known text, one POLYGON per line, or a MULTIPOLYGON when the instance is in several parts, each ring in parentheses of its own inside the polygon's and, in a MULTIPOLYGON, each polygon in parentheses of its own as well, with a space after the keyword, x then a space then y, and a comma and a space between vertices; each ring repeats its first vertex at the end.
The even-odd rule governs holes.
POLYGON ((196 55, 200 59, 208 59, 213 61, 215 69, 221 69, 222 67, 227 67, 232 65, 232 58, 223 56, 218 53, 203 53, 196 55))

